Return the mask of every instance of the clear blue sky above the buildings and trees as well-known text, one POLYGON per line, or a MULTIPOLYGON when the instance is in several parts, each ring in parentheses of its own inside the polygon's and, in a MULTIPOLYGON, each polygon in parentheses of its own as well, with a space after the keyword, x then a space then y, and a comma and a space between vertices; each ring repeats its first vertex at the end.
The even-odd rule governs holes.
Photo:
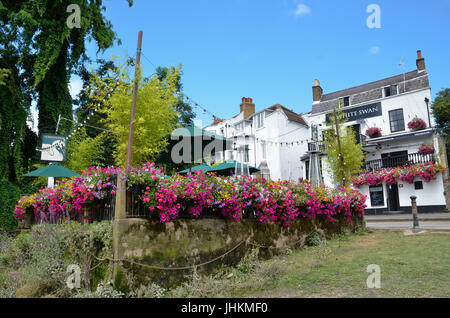
MULTIPOLYGON (((125 0, 104 2, 122 40, 98 57, 134 56, 137 33, 155 65, 183 65, 184 92, 220 118, 239 112, 242 97, 256 109, 280 103, 311 110, 311 87, 325 93, 416 68, 422 50, 432 96, 450 87, 450 1, 433 0, 125 0), (370 4, 381 28, 370 29, 370 4)), ((82 14, 82 13, 81 13, 82 14)), ((97 48, 89 45, 95 58, 97 48)), ((144 73, 154 69, 142 58, 144 73)), ((76 91, 79 81, 73 79, 76 91)), ((204 125, 211 116, 198 112, 204 125)))

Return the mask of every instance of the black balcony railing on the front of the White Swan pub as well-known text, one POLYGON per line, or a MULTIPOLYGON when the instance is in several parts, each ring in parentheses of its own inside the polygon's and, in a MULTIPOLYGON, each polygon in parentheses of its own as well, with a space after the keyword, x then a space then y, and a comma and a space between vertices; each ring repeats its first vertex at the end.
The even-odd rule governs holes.
POLYGON ((375 171, 382 168, 396 168, 401 166, 413 165, 416 163, 435 163, 432 153, 420 154, 412 153, 409 155, 394 156, 377 160, 370 160, 364 163, 365 171, 375 171))

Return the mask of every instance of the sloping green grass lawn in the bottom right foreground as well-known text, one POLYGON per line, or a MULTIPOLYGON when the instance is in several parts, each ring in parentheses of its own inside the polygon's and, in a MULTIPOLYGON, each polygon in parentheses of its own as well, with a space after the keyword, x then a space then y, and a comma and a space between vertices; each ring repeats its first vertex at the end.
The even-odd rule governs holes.
POLYGON ((450 233, 343 236, 268 261, 249 260, 185 289, 193 297, 450 297, 450 233), (380 289, 366 286, 370 264, 381 268, 380 289))

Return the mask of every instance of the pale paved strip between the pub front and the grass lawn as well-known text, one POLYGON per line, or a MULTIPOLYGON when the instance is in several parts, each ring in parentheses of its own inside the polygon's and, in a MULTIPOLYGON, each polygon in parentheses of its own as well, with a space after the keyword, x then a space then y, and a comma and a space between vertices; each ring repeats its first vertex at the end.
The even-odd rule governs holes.
MULTIPOLYGON (((366 226, 372 229, 411 229, 412 214, 382 214, 365 216, 366 226)), ((450 213, 419 213, 422 230, 450 231, 450 213)))

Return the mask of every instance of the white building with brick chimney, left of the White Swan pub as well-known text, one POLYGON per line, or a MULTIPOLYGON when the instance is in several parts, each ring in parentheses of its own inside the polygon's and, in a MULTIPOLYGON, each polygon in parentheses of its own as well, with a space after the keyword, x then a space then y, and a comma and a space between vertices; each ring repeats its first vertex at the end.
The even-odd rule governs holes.
POLYGON ((297 181, 303 177, 299 154, 306 152, 309 127, 292 110, 277 104, 255 112, 252 99, 243 97, 238 115, 226 120, 215 119, 205 130, 232 139, 233 149, 242 148, 216 153, 212 162, 233 159, 248 163, 260 169, 264 177, 274 180, 297 181), (299 136, 304 140, 300 141, 299 136))

